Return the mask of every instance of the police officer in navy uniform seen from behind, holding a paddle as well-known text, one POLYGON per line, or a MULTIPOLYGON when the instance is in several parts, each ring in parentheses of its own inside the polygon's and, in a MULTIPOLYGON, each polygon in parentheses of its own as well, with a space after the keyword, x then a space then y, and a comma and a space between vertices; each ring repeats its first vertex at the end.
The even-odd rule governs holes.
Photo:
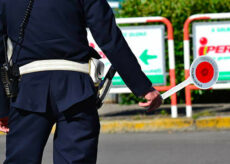
MULTIPOLYGON (((0 0, 0 64, 5 62, 3 35, 13 42, 13 62, 19 67, 41 60, 88 63, 86 27, 136 96, 140 106, 154 110, 160 94, 141 71, 106 0, 35 0, 23 42, 19 27, 29 0, 0 0)), ((96 91, 86 73, 46 70, 20 77, 15 99, 9 100, 0 82, 0 130, 6 136, 5 164, 41 163, 51 128, 55 164, 96 163, 99 119, 96 91)))

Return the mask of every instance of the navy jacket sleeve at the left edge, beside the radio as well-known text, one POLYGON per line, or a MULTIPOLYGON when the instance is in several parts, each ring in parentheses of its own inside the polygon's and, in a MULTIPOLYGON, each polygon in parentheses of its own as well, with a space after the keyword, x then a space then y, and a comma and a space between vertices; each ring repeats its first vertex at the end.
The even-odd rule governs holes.
MULTIPOLYGON (((4 34, 4 23, 3 23, 3 5, 0 0, 0 67, 2 67, 5 58, 4 58, 4 45, 3 45, 3 34, 4 34)), ((0 72, 1 76, 1 72, 0 72)), ((8 116, 9 112, 9 100, 6 97, 5 90, 3 88, 3 83, 0 78, 0 118, 8 116)))

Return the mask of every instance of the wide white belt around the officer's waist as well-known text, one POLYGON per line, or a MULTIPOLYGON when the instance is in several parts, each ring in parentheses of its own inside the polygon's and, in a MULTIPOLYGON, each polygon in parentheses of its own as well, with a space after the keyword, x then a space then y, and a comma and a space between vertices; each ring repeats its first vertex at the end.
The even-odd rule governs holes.
POLYGON ((57 59, 57 60, 38 60, 19 68, 20 75, 41 71, 76 71, 89 74, 89 64, 81 64, 74 61, 57 59))

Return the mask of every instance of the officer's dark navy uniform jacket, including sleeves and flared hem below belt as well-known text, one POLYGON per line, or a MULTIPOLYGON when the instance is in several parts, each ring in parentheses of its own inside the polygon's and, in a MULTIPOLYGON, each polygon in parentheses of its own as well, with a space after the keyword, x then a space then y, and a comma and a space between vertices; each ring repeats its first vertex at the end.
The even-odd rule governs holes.
MULTIPOLYGON (((28 0, 0 0, 0 65, 4 63, 2 36, 7 34, 15 45, 27 4, 28 0)), ((42 59, 87 63, 95 51, 89 47, 86 27, 132 92, 136 96, 149 92, 152 84, 141 71, 106 0, 35 0, 17 64, 42 59)), ((12 106, 45 112, 52 98, 59 111, 64 111, 94 94, 88 74, 36 72, 22 76, 12 106)), ((7 116, 8 110, 9 101, 0 82, 0 117, 7 116)))

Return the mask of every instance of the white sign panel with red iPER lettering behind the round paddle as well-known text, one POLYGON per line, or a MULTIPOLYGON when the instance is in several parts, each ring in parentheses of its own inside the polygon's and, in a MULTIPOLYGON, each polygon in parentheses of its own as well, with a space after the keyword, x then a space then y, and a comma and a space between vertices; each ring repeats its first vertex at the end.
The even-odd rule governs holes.
POLYGON ((219 82, 230 81, 230 22, 193 24, 194 57, 209 55, 218 64, 219 82))

